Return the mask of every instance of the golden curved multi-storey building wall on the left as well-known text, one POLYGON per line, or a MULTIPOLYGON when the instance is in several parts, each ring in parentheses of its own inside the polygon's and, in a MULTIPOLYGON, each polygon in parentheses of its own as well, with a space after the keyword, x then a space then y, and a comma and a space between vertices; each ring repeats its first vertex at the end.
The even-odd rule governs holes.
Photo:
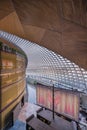
POLYGON ((25 94, 25 71, 24 52, 0 39, 0 130, 7 128, 13 109, 25 94))

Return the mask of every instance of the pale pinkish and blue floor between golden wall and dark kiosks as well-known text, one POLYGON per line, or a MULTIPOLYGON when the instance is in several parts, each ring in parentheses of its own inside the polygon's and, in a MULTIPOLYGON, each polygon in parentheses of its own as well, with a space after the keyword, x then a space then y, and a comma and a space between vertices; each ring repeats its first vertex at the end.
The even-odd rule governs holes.
POLYGON ((15 121, 14 126, 9 130, 26 130, 26 119, 34 114, 36 116, 36 111, 39 109, 39 106, 36 106, 31 103, 25 103, 21 109, 18 120, 15 121))

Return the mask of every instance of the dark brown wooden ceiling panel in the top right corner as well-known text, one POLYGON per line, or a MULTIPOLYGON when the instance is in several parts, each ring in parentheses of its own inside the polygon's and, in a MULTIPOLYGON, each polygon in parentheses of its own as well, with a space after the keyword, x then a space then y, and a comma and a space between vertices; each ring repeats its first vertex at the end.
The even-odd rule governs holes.
POLYGON ((87 27, 87 0, 62 0, 65 19, 87 27))

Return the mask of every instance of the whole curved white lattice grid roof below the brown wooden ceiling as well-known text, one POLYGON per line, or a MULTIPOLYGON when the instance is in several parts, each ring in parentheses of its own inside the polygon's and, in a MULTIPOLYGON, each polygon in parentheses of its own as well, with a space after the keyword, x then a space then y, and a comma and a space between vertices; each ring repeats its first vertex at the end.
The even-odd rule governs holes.
POLYGON ((28 57, 26 74, 38 82, 87 93, 87 71, 66 58, 18 36, 0 31, 0 37, 19 46, 28 57))

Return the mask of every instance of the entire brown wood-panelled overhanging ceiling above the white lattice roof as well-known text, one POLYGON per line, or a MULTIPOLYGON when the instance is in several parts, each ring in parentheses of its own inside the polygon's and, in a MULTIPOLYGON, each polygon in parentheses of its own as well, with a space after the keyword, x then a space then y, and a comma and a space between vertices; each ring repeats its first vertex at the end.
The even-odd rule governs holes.
POLYGON ((87 0, 1 0, 0 30, 47 47, 87 70, 87 0))

